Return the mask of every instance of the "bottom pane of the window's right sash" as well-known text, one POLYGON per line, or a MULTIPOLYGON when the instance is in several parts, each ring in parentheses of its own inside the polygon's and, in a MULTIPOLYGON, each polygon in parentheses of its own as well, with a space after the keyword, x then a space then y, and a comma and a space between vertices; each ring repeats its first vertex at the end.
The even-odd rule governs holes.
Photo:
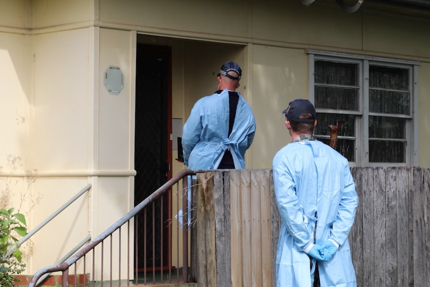
POLYGON ((369 140, 369 162, 406 162, 406 142, 369 140))

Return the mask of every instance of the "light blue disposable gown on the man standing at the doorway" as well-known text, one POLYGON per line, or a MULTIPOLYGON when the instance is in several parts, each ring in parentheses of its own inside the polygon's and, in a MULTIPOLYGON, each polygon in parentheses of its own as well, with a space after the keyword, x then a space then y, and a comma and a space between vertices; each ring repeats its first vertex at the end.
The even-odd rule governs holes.
POLYGON ((236 169, 245 168, 245 151, 254 139, 255 119, 249 104, 238 95, 230 136, 227 89, 203 97, 194 105, 182 135, 184 164, 189 169, 216 169, 226 150, 231 152, 236 169))

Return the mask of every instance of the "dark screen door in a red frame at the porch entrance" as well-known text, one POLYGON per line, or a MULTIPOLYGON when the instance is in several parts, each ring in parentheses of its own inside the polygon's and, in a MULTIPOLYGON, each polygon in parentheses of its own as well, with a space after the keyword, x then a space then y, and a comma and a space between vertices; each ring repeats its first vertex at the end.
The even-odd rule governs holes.
MULTIPOLYGON (((135 205, 169 178, 172 158, 171 51, 169 47, 138 45, 136 58, 135 205)), ((167 218, 171 195, 150 204, 136 220, 139 271, 167 268, 167 218), (146 225, 145 225, 146 222, 146 225), (146 228, 144 228, 146 226, 146 228), (145 236, 146 235, 146 236, 145 236), (146 238, 146 239, 145 239, 146 238), (146 241, 146 242, 145 242, 146 241), (145 244, 146 243, 146 244, 145 244), (146 256, 144 255, 146 247, 146 256), (144 262, 146 259, 146 262, 144 262)))

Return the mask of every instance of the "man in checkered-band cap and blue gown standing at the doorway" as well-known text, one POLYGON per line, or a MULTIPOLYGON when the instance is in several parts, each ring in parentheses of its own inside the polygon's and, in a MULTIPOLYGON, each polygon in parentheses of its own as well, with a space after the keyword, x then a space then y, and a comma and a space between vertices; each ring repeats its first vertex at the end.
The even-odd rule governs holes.
POLYGON ((243 169, 245 151, 255 134, 249 104, 236 91, 242 70, 224 63, 217 74, 218 90, 201 98, 184 125, 184 164, 189 169, 243 169))

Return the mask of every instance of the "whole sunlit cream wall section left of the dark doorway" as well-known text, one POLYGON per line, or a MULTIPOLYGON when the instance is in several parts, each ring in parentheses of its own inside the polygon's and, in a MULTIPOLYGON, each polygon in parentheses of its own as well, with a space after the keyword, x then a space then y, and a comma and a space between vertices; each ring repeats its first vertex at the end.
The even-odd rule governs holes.
MULTIPOLYGON (((20 1, 10 3, 16 10, 27 8, 20 1)), ((33 20, 38 26, 88 19, 75 15, 82 14, 89 2, 81 1, 77 6, 69 2, 76 9, 64 5, 60 8, 57 3, 33 3, 33 20), (46 4, 45 10, 37 4, 46 4)), ((132 33, 104 30, 99 36, 98 28, 76 26, 4 30, 5 33, 0 29, 0 82, 5 87, 0 114, 8 140, 1 141, 0 150, 5 154, 0 157, 0 166, 6 167, 6 154, 10 153, 38 170, 40 177, 30 194, 34 199, 40 194, 41 198, 28 214, 22 210, 28 229, 32 230, 88 183, 93 185, 90 197, 87 193, 79 198, 36 233, 31 245, 24 247, 26 272, 33 274, 56 263, 88 233, 93 237, 100 234, 133 205, 132 33), (112 43, 112 38, 119 41, 112 43), (102 81, 95 79, 109 64, 121 66, 128 80, 120 96, 107 95, 99 86, 102 81)), ((22 175, 23 168, 15 174, 22 175)))

